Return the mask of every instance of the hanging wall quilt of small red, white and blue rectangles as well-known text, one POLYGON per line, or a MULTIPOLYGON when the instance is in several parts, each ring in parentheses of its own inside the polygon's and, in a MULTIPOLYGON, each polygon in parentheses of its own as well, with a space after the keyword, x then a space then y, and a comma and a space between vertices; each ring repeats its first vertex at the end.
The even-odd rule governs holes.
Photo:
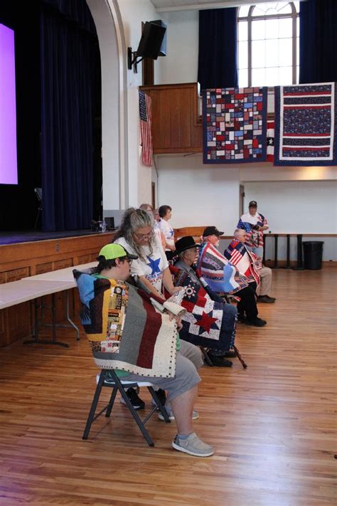
POLYGON ((203 163, 264 162, 267 88, 203 92, 203 163))

